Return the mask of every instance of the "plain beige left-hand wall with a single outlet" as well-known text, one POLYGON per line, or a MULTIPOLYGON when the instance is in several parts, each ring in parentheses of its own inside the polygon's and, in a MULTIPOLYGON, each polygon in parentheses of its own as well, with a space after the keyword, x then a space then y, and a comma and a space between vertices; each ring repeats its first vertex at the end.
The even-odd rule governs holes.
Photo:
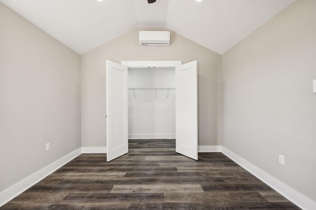
POLYGON ((0 3, 0 192, 80 136, 80 56, 0 3))

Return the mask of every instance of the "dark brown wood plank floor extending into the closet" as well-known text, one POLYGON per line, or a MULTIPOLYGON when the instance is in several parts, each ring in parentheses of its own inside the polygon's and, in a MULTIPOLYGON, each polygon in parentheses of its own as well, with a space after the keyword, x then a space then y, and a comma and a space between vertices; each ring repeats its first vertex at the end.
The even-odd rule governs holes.
POLYGON ((1 210, 297 210, 221 152, 193 160, 174 140, 130 140, 129 153, 81 154, 1 210))

